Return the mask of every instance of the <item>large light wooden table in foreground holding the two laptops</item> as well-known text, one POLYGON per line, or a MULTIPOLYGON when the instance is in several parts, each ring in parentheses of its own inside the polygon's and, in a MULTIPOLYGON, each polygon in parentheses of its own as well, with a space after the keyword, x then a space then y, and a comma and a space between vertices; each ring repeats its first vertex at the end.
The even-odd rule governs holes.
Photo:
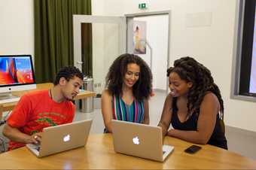
POLYGON ((256 161, 228 150, 203 145, 202 150, 190 155, 184 149, 191 143, 177 138, 166 137, 165 144, 175 150, 165 162, 155 162, 135 156, 114 153, 112 135, 90 134, 86 147, 37 158, 26 147, 0 154, 2 169, 252 169, 256 161))

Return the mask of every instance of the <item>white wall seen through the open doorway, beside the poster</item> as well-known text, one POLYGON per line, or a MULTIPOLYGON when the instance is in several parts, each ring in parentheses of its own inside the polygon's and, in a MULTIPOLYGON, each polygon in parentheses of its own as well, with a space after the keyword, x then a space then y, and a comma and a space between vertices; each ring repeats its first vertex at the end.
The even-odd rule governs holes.
MULTIPOLYGON (((153 88, 166 90, 167 53, 168 53, 168 15, 156 15, 148 17, 135 17, 134 20, 141 20, 147 23, 147 41, 152 47, 152 74, 153 88), (161 65, 161 66, 160 66, 161 65)), ((139 54, 146 62, 150 61, 151 50, 147 47, 147 54, 139 54)))

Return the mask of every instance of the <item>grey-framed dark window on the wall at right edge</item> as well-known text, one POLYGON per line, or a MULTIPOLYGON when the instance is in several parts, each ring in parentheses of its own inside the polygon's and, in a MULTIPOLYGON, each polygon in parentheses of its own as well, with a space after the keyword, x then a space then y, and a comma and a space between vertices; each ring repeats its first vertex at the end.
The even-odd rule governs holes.
POLYGON ((256 0, 240 0, 237 7, 231 96, 256 102, 256 0))

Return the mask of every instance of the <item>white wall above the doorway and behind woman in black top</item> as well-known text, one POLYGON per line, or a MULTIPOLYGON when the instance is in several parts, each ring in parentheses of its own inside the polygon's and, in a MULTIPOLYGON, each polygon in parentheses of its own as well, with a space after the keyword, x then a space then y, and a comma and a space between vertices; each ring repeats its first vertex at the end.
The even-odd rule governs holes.
MULTIPOLYGON (((123 16, 144 12, 138 9, 138 3, 137 0, 105 0, 104 14, 123 16)), ((230 99, 236 1, 148 0, 147 3, 145 12, 172 11, 170 65, 181 56, 194 56, 206 65, 221 89, 225 123, 256 132, 255 103, 230 99), (207 19, 209 14, 211 19, 207 19), (192 20, 194 16, 197 18, 192 20), (191 23, 194 26, 189 27, 191 23)))

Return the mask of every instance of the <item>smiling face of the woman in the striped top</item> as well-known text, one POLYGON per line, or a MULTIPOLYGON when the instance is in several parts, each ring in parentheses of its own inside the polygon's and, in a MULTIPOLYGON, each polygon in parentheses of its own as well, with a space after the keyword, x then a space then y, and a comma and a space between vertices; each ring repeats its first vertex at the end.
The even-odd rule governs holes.
POLYGON ((139 80, 140 67, 135 63, 127 65, 126 73, 123 77, 123 84, 126 87, 133 87, 133 85, 139 80))

